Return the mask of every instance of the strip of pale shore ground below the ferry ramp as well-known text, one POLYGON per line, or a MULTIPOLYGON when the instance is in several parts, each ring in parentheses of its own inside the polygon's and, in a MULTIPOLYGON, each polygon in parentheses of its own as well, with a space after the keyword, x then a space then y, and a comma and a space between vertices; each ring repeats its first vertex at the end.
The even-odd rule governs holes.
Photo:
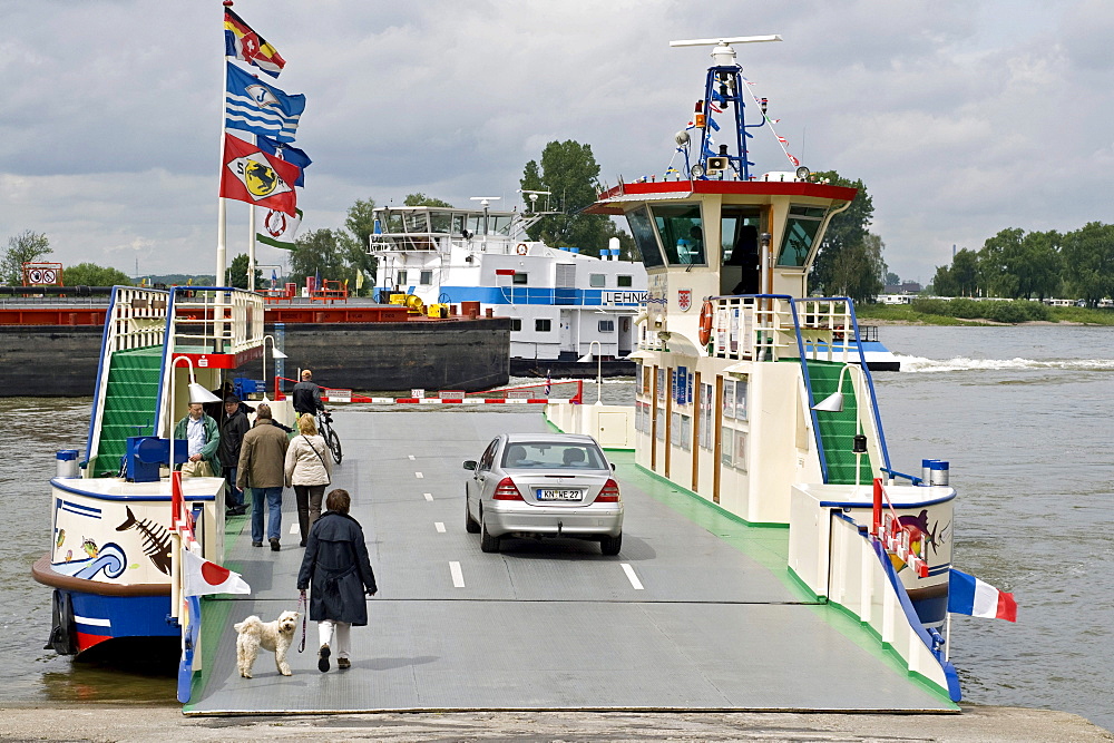
POLYGON ((177 706, 7 707, 2 741, 1114 741, 1051 710, 964 706, 962 714, 754 712, 447 712, 186 717, 177 706))

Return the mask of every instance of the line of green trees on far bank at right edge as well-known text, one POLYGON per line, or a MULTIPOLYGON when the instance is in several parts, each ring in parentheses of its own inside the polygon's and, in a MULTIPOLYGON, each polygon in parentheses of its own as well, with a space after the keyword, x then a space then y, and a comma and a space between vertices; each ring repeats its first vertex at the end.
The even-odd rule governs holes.
POLYGON ((1083 300, 1095 307, 1114 295, 1114 225, 1091 222, 1061 234, 1012 227, 964 248, 938 266, 931 292, 940 296, 1083 300))

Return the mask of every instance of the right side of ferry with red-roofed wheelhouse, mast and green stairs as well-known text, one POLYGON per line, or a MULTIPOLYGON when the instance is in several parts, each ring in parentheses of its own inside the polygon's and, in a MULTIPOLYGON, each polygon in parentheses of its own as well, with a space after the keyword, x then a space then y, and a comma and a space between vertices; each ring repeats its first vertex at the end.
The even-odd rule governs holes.
POLYGON ((772 124, 733 47, 780 40, 673 42, 713 47, 675 137, 682 169, 620 183, 587 209, 627 221, 649 274, 635 404, 554 408, 550 420, 634 448, 639 467, 747 524, 788 527, 794 579, 958 700, 949 467, 890 461, 854 303, 809 292, 824 231, 857 192, 752 162, 752 137, 772 124))

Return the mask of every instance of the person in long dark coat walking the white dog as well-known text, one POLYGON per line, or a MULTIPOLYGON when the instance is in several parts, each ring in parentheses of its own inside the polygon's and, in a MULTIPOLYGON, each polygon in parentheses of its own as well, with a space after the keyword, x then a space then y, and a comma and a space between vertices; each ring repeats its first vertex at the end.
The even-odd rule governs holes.
POLYGON ((351 629, 368 624, 364 593, 374 596, 379 588, 371 570, 368 545, 360 522, 349 516, 352 498, 336 488, 325 496, 324 514, 310 529, 310 538, 297 571, 297 589, 305 597, 311 584, 310 618, 317 623, 317 671, 329 671, 334 642, 336 667, 352 667, 351 629))

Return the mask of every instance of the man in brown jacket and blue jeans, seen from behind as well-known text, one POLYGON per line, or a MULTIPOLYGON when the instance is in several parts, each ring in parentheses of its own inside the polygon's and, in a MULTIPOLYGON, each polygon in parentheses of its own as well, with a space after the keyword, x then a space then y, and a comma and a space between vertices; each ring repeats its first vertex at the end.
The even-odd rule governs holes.
POLYGON ((283 467, 290 440, 271 424, 271 405, 255 410, 255 426, 244 434, 240 447, 236 486, 252 489, 252 547, 263 546, 263 504, 267 508, 267 537, 271 549, 278 551, 282 521, 283 467))

